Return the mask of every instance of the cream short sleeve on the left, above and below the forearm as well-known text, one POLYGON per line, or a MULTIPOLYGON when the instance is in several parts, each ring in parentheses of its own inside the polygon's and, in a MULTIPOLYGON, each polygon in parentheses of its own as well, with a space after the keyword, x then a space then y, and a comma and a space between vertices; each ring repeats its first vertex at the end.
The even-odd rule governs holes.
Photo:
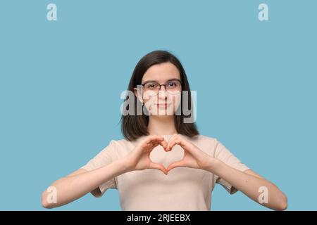
MULTIPOLYGON (((116 148, 115 141, 111 140, 108 146, 101 150, 94 158, 89 160, 86 165, 80 167, 80 169, 86 169, 87 171, 91 171, 93 169, 98 169, 99 167, 104 167, 106 165, 111 164, 114 160, 116 160, 116 148)), ((106 181, 104 184, 99 186, 99 190, 101 195, 104 195, 108 188, 117 188, 116 185, 116 177, 106 181)), ((96 197, 100 197, 101 195, 97 195, 96 197)))

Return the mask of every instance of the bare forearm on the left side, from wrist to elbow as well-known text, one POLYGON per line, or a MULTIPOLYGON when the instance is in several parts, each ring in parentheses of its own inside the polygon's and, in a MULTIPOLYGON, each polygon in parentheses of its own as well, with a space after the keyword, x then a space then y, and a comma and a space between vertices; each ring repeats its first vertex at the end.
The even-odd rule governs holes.
POLYGON ((113 177, 129 171, 130 168, 124 160, 116 160, 109 165, 92 171, 65 176, 51 184, 51 187, 56 190, 56 203, 50 203, 48 200, 50 193, 46 190, 42 193, 42 205, 46 208, 66 205, 93 191, 104 182, 113 179, 113 177))

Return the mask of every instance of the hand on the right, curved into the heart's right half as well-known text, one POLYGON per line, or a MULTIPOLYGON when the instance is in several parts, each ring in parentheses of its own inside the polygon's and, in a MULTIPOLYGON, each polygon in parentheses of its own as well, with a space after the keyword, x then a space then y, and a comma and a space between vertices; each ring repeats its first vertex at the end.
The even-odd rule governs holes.
POLYGON ((204 151, 200 150, 197 146, 195 146, 192 142, 187 141, 182 136, 178 134, 174 134, 172 138, 168 141, 168 145, 166 147, 166 151, 172 150, 175 145, 180 145, 184 149, 184 158, 177 162, 172 162, 167 171, 175 167, 189 167, 194 169, 205 169, 211 163, 211 156, 204 153, 204 151))

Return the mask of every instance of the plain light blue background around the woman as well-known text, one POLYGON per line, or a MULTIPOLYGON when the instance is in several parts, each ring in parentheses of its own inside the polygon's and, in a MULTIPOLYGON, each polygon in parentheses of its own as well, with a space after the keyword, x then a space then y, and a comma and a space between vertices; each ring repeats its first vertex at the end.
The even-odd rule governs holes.
MULTIPOLYGON (((41 194, 120 134, 121 91, 149 51, 177 56, 197 125, 316 208, 317 1, 0 1, 0 210, 41 194), (58 21, 46 20, 57 5, 58 21), (269 21, 258 20, 268 4, 269 21), (315 65, 314 65, 315 63, 315 65)), ((120 210, 118 191, 55 210, 120 210)), ((212 210, 266 210, 216 186, 212 210)))

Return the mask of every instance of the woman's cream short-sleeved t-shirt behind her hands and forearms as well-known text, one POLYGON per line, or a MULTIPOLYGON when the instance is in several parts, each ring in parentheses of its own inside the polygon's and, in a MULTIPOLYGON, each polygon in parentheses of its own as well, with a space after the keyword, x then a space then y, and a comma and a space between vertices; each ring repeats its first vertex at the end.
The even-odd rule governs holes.
MULTIPOLYGON (((193 138, 180 135, 230 167, 242 172, 249 169, 215 138, 201 134, 193 138)), ((163 136, 168 141, 172 135, 163 136)), ((135 141, 111 140, 106 148, 81 169, 97 169, 123 158, 145 137, 141 136, 135 141)), ((181 160, 183 154, 184 150, 178 145, 168 153, 162 146, 157 146, 151 152, 150 158, 167 168, 171 162, 181 160)), ((103 195, 108 188, 116 188, 119 191, 122 210, 210 210, 211 192, 215 184, 220 184, 230 194, 237 192, 235 187, 215 174, 188 167, 171 169, 168 175, 158 169, 126 172, 101 184, 99 189, 103 195)))

